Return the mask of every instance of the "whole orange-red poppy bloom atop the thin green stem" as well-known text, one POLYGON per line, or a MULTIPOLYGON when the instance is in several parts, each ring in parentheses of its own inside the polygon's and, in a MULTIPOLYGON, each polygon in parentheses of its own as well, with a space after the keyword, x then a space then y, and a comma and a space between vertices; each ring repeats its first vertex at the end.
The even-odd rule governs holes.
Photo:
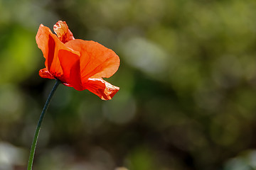
POLYGON ((102 78, 117 72, 119 57, 97 42, 75 39, 65 21, 58 21, 53 30, 57 36, 41 24, 36 35, 36 43, 46 58, 46 68, 41 69, 39 75, 58 79, 78 91, 87 89, 102 100, 110 100, 119 87, 102 78))

